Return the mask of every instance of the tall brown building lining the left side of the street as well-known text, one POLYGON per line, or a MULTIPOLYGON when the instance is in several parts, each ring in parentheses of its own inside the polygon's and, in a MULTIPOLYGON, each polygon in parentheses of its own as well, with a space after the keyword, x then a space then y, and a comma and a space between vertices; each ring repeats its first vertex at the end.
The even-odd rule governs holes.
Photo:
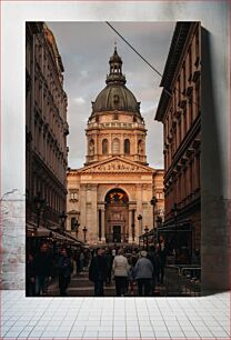
POLYGON ((27 236, 42 227, 59 227, 59 216, 66 211, 69 132, 63 71, 56 39, 47 24, 27 22, 27 236))

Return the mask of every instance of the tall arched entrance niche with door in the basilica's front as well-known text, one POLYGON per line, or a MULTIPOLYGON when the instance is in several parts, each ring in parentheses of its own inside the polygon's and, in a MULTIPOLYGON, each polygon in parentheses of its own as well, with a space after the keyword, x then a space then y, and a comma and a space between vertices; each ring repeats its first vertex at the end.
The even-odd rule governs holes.
POLYGON ((129 198, 120 188, 106 196, 106 242, 120 243, 129 240, 129 198))

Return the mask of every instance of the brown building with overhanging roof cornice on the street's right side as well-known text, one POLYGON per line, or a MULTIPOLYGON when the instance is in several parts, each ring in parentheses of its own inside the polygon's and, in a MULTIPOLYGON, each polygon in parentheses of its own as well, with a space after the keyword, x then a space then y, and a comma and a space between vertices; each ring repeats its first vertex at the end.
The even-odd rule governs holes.
MULTIPOLYGON (((167 59, 155 120, 163 123, 165 226, 189 224, 201 239, 201 28, 178 22, 167 59)), ((179 229, 178 228, 178 229, 179 229)))

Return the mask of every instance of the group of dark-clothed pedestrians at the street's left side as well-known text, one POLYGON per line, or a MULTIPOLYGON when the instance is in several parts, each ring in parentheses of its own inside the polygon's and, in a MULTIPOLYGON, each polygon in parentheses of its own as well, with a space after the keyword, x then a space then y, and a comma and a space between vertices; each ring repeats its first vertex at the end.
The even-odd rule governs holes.
POLYGON ((48 296, 49 284, 57 281, 61 297, 67 297, 71 274, 76 268, 77 274, 82 274, 88 267, 90 251, 78 248, 74 251, 60 247, 56 252, 48 241, 42 241, 36 251, 27 251, 26 259, 26 296, 48 296))

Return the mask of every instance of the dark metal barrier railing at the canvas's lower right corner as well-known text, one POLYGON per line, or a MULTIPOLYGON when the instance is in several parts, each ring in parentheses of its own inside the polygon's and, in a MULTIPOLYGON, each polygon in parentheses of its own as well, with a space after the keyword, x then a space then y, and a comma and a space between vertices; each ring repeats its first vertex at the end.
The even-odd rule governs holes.
POLYGON ((165 294, 193 296, 201 294, 201 268, 191 264, 165 267, 165 294))

